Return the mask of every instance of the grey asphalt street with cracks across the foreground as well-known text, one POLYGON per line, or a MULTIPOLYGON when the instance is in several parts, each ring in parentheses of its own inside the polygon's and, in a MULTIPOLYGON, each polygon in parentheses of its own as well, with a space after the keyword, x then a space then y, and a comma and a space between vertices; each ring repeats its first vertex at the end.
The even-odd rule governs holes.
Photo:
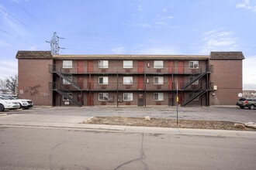
POLYGON ((0 127, 1 169, 254 169, 247 137, 0 127))

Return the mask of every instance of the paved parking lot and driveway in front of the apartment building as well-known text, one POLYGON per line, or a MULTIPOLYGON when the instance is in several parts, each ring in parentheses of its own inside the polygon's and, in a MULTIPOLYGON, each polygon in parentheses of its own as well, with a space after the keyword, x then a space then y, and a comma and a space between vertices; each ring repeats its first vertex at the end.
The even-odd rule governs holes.
MULTIPOLYGON (((161 117, 176 119, 177 108, 168 106, 149 107, 33 107, 29 110, 10 110, 0 117, 1 121, 28 121, 51 123, 81 123, 89 117, 161 117)), ((178 118, 204 121, 256 122, 256 110, 239 107, 178 107, 178 118)))

